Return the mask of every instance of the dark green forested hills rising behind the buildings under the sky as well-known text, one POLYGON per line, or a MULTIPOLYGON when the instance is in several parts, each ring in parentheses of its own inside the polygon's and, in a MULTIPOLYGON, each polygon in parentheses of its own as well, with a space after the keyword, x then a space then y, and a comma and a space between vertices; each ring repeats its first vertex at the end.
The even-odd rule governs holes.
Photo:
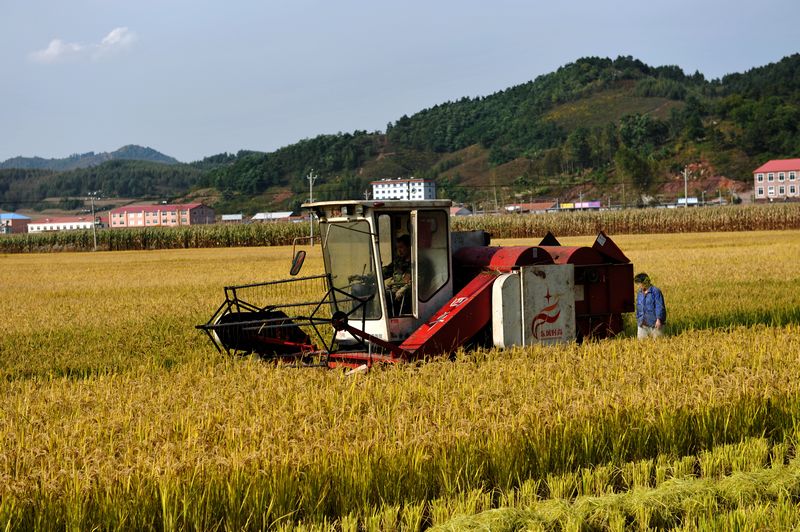
MULTIPOLYGON (((75 170, 34 179, 39 194, 105 180, 104 191, 178 196, 186 183, 195 198, 245 212, 296 208, 308 197, 311 169, 319 176, 315 199, 363 197, 370 180, 409 175, 436 179, 443 197, 478 204, 498 190, 505 200, 599 198, 620 187, 629 197, 658 197, 689 164, 698 179, 744 182, 767 159, 798 157, 798 127, 800 54, 718 80, 631 57, 584 58, 489 96, 402 116, 383 132, 320 135, 270 153, 223 153, 173 165, 171 173, 155 165, 158 175, 104 163, 91 175, 75 170)), ((0 173, 0 194, 3 182, 0 173)))

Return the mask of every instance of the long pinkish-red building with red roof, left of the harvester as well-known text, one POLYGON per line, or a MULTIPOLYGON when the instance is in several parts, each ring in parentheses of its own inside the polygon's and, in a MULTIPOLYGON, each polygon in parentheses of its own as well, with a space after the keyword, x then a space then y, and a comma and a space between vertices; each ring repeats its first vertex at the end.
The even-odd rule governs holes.
POLYGON ((202 203, 128 205, 109 213, 111 229, 213 224, 214 209, 202 203))

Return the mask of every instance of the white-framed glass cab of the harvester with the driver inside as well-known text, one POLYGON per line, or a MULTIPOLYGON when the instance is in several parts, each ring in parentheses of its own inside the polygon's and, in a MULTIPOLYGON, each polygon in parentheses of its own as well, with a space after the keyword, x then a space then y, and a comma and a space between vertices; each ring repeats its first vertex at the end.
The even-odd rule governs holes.
MULTIPOLYGON (((449 201, 345 201, 303 205, 319 219, 335 310, 363 332, 407 338, 453 294, 449 201)), ((360 339, 339 331, 338 345, 360 339)))

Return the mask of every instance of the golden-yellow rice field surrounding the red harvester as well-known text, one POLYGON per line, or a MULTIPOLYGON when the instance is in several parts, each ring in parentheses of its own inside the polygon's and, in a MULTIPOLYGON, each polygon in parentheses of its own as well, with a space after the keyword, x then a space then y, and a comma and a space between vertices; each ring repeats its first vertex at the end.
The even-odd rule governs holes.
POLYGON ((193 327, 289 247, 0 255, 0 527, 798 526, 800 231, 612 236, 666 337, 350 377, 193 327))

